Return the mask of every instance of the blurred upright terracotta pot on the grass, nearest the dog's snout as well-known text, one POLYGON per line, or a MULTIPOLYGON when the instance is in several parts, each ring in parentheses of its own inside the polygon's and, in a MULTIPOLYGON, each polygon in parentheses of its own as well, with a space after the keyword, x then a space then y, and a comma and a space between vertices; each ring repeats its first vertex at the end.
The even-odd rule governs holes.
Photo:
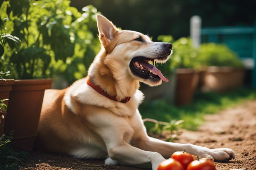
POLYGON ((177 85, 175 104, 187 105, 191 103, 193 94, 198 85, 199 75, 193 69, 177 69, 177 85))

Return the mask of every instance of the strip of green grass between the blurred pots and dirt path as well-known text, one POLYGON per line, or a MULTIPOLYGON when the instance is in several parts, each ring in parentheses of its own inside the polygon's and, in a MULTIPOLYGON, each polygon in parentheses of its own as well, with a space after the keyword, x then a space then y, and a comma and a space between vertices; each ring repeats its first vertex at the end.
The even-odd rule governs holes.
MULTIPOLYGON (((139 111, 143 119, 151 118, 164 122, 183 119, 185 122, 181 124, 182 128, 196 130, 203 123, 204 115, 214 114, 253 99, 256 99, 256 90, 241 88, 225 93, 198 93, 190 105, 182 107, 173 106, 160 99, 145 101, 140 105, 139 111)), ((149 129, 154 124, 146 122, 145 126, 149 129)))

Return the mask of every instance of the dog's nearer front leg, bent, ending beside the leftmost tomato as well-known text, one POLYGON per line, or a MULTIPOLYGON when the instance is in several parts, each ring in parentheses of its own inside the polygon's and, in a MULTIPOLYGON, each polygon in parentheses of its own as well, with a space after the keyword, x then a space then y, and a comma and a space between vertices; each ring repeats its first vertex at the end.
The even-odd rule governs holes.
POLYGON ((91 126, 101 137, 108 152, 109 157, 106 164, 114 164, 116 161, 122 164, 145 164, 151 163, 153 170, 157 170, 158 165, 165 158, 157 152, 145 151, 129 144, 134 129, 128 122, 113 114, 95 114, 88 116, 91 126), (97 120, 97 121, 94 121, 97 120))

